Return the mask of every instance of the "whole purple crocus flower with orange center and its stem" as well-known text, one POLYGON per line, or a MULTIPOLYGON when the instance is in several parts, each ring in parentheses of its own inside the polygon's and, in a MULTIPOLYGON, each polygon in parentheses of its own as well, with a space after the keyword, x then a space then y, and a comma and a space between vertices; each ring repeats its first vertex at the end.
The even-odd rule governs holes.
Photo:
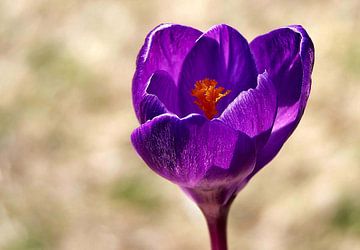
POLYGON ((206 217, 212 249, 226 246, 231 202, 298 125, 314 46, 299 25, 251 43, 234 28, 203 33, 162 24, 136 63, 131 141, 147 165, 179 185, 206 217))

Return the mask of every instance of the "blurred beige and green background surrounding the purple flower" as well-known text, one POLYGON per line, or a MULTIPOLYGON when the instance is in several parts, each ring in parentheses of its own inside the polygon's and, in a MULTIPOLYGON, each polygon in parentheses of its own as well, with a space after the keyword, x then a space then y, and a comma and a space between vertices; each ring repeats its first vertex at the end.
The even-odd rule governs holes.
POLYGON ((230 249, 360 249, 360 2, 0 1, 0 249, 209 249, 204 219, 134 152, 135 58, 163 22, 249 41, 302 24, 305 115, 238 195, 230 249))

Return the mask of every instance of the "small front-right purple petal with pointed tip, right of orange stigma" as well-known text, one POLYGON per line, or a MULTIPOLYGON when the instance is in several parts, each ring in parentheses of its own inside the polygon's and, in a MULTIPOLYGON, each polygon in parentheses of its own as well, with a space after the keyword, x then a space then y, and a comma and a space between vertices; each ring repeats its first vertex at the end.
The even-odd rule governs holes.
POLYGON ((219 117, 228 126, 256 138, 259 149, 267 141, 277 111, 276 89, 265 72, 256 89, 243 91, 219 117))

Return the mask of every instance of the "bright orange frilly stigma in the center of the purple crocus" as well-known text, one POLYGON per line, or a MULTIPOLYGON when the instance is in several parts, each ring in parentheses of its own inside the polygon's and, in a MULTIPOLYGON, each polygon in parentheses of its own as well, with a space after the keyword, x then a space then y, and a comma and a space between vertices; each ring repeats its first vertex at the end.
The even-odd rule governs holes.
POLYGON ((211 120, 217 115, 216 104, 221 98, 228 95, 230 90, 225 90, 223 87, 216 88, 217 81, 205 78, 204 80, 197 81, 191 95, 196 97, 194 103, 204 111, 205 116, 211 120))

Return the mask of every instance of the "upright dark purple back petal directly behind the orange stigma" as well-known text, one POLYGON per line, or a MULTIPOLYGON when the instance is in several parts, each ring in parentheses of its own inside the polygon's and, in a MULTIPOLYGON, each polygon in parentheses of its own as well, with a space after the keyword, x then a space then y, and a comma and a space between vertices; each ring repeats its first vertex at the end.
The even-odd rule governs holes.
POLYGON ((198 80, 214 79, 231 90, 218 104, 219 114, 241 92, 256 87, 256 67, 246 39, 228 25, 217 25, 205 32, 185 58, 180 73, 181 116, 201 113, 194 105, 191 89, 198 80))

